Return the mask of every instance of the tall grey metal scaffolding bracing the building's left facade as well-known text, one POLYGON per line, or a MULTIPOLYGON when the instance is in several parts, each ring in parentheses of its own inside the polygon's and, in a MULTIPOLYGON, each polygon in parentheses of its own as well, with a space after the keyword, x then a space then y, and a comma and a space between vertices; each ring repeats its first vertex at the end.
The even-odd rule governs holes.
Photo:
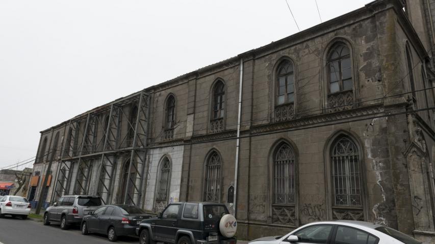
POLYGON ((73 194, 96 194, 106 204, 112 203, 117 162, 122 156, 130 164, 129 175, 124 176, 128 184, 126 189, 120 189, 118 201, 139 205, 145 182, 149 103, 149 95, 142 91, 72 118, 66 127, 55 197, 69 194, 73 187, 73 194), (130 107, 134 111, 125 113, 130 107), (122 135, 121 121, 123 130, 127 125, 122 135), (97 174, 92 176, 97 162, 97 174), (77 169, 73 170, 75 165, 77 169), (91 178, 97 182, 92 189, 91 178))

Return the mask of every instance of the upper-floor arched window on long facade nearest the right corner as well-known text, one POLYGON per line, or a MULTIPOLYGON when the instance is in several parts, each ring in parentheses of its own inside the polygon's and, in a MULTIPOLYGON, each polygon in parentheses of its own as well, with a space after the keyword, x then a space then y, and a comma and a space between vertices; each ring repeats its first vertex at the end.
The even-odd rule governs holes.
POLYGON ((337 93, 353 89, 352 67, 349 47, 339 42, 328 53, 329 86, 328 92, 337 93))

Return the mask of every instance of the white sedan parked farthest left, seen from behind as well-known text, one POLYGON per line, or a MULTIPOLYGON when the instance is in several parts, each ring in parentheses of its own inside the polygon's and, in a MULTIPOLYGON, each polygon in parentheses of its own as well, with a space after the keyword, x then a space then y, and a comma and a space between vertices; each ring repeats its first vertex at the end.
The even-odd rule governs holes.
POLYGON ((0 217, 11 215, 20 216, 23 220, 30 214, 30 203, 25 197, 0 196, 0 217))

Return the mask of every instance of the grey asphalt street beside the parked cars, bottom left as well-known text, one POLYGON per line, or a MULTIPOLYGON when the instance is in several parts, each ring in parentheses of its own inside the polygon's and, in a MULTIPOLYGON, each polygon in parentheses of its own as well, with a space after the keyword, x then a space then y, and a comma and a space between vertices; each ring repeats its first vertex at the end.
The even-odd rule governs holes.
MULTIPOLYGON (((76 244, 76 243, 114 243, 107 236, 99 234, 82 235, 79 227, 61 230, 58 224, 44 226, 42 222, 21 220, 19 218, 0 218, 0 244, 76 244)), ((135 237, 119 237, 115 243, 139 244, 135 237)))

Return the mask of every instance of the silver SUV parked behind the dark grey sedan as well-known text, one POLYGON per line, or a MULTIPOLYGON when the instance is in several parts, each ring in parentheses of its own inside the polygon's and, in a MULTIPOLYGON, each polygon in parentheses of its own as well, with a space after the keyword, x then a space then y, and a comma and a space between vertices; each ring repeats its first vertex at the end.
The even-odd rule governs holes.
POLYGON ((68 229, 70 225, 82 223, 83 217, 103 205, 98 196, 73 195, 60 197, 53 206, 44 212, 44 225, 60 222, 60 228, 68 229))

